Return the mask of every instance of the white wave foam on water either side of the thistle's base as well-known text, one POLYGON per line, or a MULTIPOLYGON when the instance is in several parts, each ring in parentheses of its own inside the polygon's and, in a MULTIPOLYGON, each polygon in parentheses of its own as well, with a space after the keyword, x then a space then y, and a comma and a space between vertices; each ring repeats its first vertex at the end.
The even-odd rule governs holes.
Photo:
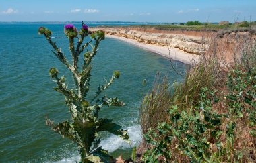
MULTIPOLYGON (((132 148, 133 146, 138 146, 142 140, 141 126, 133 125, 131 127, 128 127, 127 131, 131 140, 131 144, 128 144, 127 142, 125 142, 123 139, 119 138, 116 135, 110 135, 110 137, 100 142, 100 146, 102 146, 104 150, 108 150, 108 152, 114 152, 115 150, 120 148, 132 148)), ((63 162, 71 163, 71 162, 79 162, 79 160, 80 160, 80 156, 73 156, 71 158, 63 158, 62 160, 59 160, 55 163, 63 163, 63 162)))

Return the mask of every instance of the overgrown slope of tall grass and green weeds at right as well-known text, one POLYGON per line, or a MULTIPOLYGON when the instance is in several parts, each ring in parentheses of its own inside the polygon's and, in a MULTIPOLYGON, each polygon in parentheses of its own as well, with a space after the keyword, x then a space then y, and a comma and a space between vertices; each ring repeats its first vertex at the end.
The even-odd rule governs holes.
POLYGON ((183 83, 156 79, 141 104, 143 162, 256 161, 256 46, 239 44, 232 62, 210 48, 183 83))

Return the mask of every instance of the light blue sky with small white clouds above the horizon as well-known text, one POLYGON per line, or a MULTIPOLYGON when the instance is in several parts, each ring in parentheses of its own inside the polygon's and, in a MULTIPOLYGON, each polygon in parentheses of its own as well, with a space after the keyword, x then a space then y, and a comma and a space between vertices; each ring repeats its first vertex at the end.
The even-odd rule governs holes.
POLYGON ((0 21, 256 21, 256 0, 0 0, 0 21))

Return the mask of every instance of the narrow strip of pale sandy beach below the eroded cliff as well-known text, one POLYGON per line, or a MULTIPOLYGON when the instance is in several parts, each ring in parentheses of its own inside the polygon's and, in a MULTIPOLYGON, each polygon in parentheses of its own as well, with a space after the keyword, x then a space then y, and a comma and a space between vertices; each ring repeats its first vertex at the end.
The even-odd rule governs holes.
POLYGON ((141 42, 138 42, 137 40, 133 40, 131 38, 125 38, 121 36, 115 36, 106 34, 107 38, 114 38, 123 42, 127 42, 129 44, 132 44, 133 46, 137 46, 139 48, 143 48, 144 50, 148 50, 150 52, 154 52, 156 54, 159 54, 160 56, 164 56, 166 58, 172 58, 173 60, 177 60, 179 62, 183 62, 184 64, 190 64, 193 65, 195 61, 199 60, 200 56, 197 54, 189 54, 186 52, 183 52, 176 48, 170 47, 170 52, 168 50, 168 47, 164 46, 157 46, 154 44, 144 44, 141 42))

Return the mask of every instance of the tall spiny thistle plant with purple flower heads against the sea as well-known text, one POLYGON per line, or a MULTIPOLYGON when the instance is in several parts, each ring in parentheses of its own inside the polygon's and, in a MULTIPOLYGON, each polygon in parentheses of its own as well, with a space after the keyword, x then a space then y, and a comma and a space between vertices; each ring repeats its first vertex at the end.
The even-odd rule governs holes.
POLYGON ((98 133, 107 131, 118 135, 127 142, 129 136, 127 131, 121 129, 121 126, 112 122, 112 119, 98 118, 100 108, 104 105, 123 106, 125 103, 119 99, 108 98, 106 95, 99 98, 101 93, 106 90, 115 79, 118 79, 120 72, 113 72, 110 80, 104 85, 98 87, 92 99, 86 98, 90 88, 90 72, 92 70, 92 58, 98 52, 98 46, 105 38, 102 30, 89 32, 88 26, 82 22, 82 28, 77 32, 77 29, 69 24, 64 28, 65 36, 69 39, 69 50, 72 56, 72 63, 69 63, 61 48, 58 48, 56 43, 51 40, 51 30, 40 27, 38 34, 44 35, 46 40, 53 47, 53 54, 70 70, 75 81, 75 88, 68 88, 65 77, 59 77, 57 68, 51 68, 49 74, 53 81, 57 84, 55 91, 62 93, 65 96, 65 104, 71 113, 71 119, 63 121, 55 125, 46 115, 46 125, 51 127, 53 131, 59 133, 63 138, 69 138, 75 142, 79 148, 81 162, 96 162, 100 160, 109 162, 113 159, 108 155, 108 151, 102 149, 100 144, 100 136, 98 133), (86 42, 86 37, 90 36, 90 40, 86 42), (77 44, 75 45, 75 41, 77 44), (75 47, 76 46, 76 47, 75 47), (91 46, 92 50, 88 50, 91 46), (80 57, 84 54, 83 57, 80 57), (82 58, 82 66, 79 68, 79 59, 82 58))

